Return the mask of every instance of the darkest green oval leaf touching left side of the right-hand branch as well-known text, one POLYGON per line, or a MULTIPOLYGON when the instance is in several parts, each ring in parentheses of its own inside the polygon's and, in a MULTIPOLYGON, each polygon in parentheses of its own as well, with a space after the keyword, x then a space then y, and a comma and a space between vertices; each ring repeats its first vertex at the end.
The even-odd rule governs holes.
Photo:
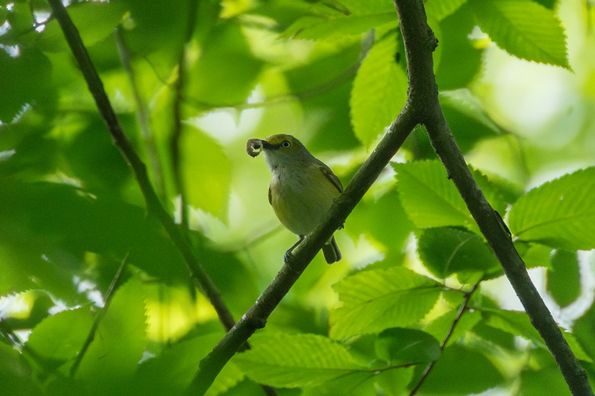
POLYGON ((425 229, 418 237, 419 258, 425 267, 438 278, 452 274, 481 279, 500 264, 493 252, 478 235, 452 227, 425 229))

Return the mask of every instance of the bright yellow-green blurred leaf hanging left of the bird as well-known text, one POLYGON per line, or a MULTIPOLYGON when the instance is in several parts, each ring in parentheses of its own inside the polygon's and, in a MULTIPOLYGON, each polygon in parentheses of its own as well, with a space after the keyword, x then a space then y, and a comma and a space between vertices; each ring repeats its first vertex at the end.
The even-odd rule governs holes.
POLYGON ((227 220, 231 163, 223 148, 191 128, 181 135, 180 151, 186 204, 227 220))

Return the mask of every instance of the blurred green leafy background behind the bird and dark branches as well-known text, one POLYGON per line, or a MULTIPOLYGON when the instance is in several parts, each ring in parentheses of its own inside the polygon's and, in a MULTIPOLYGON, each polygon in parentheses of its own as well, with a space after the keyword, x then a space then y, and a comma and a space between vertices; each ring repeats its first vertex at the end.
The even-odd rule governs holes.
MULTIPOLYGON (((593 5, 425 7, 449 126, 595 379, 593 5)), ((68 12, 162 204, 187 220, 239 318, 295 242, 245 142, 295 135, 346 185, 405 103, 392 1, 68 12)), ((2 392, 182 394, 223 328, 146 216, 48 4, 0 1, 0 23, 2 392)), ((430 362, 420 394, 569 394, 422 128, 336 237, 344 259, 312 262, 209 395, 406 395, 430 362)))

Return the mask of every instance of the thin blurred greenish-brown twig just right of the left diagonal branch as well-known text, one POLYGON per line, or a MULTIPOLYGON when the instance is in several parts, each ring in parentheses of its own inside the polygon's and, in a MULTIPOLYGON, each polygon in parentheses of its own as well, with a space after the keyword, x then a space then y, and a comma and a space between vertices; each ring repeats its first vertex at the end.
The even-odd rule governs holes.
POLYGON ((145 99, 143 99, 142 95, 140 94, 139 86, 136 83, 136 74, 132 68, 130 50, 124 42, 121 26, 118 26, 114 30, 114 37, 118 47, 118 53, 120 53, 122 67, 128 75, 134 102, 136 102, 136 119, 139 123, 140 135, 143 138, 143 142, 145 142, 146 156, 149 160, 149 166, 151 167, 151 173, 155 183, 155 190, 159 195, 159 198, 161 198, 161 202, 165 203, 167 202, 167 193, 165 192, 165 183, 163 181, 161 161, 159 161, 159 153, 155 143, 155 135, 151 129, 151 122, 149 121, 149 109, 145 99))

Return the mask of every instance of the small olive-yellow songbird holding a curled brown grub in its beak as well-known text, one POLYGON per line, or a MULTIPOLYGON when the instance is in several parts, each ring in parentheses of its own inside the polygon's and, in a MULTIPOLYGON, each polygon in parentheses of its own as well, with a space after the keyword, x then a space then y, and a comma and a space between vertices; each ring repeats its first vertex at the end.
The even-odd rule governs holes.
MULTIPOLYGON (((246 151, 250 156, 258 156, 261 150, 273 173, 268 201, 281 224, 299 237, 289 253, 324 219, 343 186, 328 166, 291 135, 248 141, 246 151)), ((322 246, 322 253, 328 264, 341 259, 334 236, 322 246)))

